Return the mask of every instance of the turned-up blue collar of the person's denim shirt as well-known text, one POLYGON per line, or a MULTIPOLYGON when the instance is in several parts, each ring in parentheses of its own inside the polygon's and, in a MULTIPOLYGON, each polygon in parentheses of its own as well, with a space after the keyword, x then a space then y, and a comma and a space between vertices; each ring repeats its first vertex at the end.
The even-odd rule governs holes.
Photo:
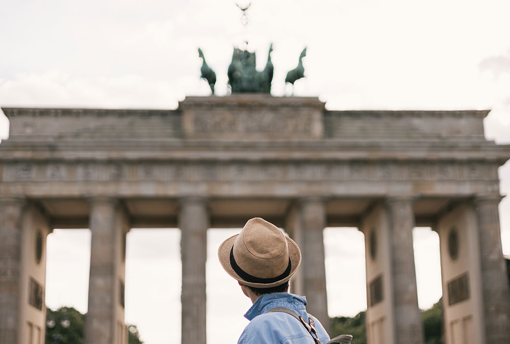
POLYGON ((248 309, 244 317, 251 321, 257 315, 263 314, 274 307, 289 309, 306 309, 307 298, 290 293, 271 293, 261 295, 248 309))

